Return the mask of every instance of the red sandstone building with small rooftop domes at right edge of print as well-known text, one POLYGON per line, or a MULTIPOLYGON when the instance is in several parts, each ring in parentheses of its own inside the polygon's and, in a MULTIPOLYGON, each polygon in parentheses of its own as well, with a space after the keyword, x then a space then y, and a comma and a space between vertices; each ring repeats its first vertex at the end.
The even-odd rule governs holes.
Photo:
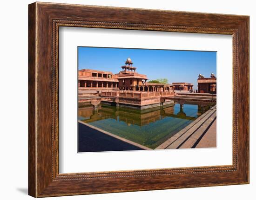
POLYGON ((214 73, 211 73, 209 78, 205 78, 202 74, 198 75, 197 83, 198 83, 198 91, 200 93, 212 93, 216 94, 217 92, 217 78, 214 73))

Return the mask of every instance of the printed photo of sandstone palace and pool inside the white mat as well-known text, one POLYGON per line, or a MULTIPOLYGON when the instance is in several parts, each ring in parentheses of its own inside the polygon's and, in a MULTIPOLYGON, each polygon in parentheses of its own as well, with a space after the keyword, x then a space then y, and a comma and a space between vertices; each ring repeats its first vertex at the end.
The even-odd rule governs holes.
POLYGON ((78 70, 78 152, 216 148, 216 52, 80 46, 78 70))

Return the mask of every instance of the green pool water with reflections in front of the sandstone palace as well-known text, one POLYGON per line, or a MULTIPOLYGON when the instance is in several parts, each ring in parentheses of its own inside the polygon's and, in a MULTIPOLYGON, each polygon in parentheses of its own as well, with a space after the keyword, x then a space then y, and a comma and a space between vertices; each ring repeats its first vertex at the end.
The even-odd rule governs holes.
POLYGON ((101 105, 98 110, 80 108, 78 119, 149 148, 156 148, 193 122, 210 106, 180 104, 151 110, 101 105))

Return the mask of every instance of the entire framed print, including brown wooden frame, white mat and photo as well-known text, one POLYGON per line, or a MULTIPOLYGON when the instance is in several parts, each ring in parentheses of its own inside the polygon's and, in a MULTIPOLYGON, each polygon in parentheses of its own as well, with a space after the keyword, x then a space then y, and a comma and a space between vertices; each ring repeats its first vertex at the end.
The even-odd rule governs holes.
POLYGON ((29 5, 29 195, 249 183, 249 17, 29 5))

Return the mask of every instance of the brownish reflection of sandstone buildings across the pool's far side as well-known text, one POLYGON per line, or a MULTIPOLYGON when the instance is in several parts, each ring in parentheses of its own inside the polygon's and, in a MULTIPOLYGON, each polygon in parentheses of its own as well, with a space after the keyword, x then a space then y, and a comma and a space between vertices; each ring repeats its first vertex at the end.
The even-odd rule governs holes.
POLYGON ((176 103, 175 106, 169 106, 165 108, 154 108, 148 110, 135 110, 122 107, 101 105, 100 109, 94 110, 92 106, 80 108, 78 110, 79 120, 86 123, 92 123, 104 119, 115 119, 117 121, 125 122, 128 126, 131 124, 144 126, 149 123, 155 123, 158 120, 162 120, 165 117, 174 117, 184 120, 195 120, 203 112, 209 109, 210 105, 190 105, 189 109, 186 109, 188 104, 176 103), (191 106, 194 112, 191 112, 191 106), (197 108, 197 112, 195 109, 197 108))

